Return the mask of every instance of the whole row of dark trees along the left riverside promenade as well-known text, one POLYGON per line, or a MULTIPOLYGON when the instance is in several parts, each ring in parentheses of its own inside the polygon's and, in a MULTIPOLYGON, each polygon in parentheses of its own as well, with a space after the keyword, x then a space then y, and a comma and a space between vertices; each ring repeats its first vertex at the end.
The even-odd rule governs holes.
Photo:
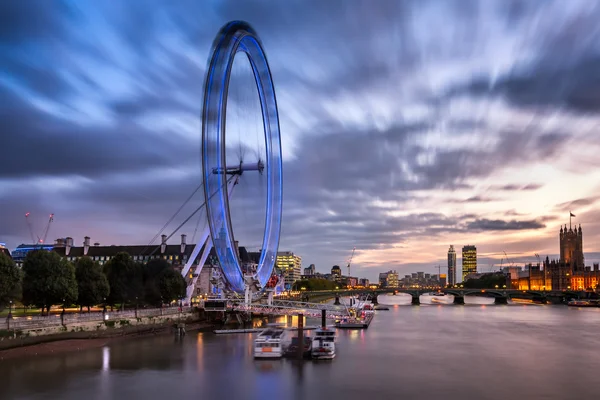
POLYGON ((49 312, 54 305, 162 304, 184 298, 186 282, 162 259, 147 264, 135 262, 127 253, 118 253, 104 266, 89 257, 74 263, 55 252, 34 250, 27 254, 23 269, 0 254, 0 310, 10 301, 49 312))

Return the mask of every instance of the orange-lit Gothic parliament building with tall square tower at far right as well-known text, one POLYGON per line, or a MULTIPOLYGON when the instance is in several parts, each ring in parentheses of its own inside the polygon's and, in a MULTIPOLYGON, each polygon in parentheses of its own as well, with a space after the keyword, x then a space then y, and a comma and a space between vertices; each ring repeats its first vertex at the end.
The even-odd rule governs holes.
POLYGON ((589 290, 600 283, 600 268, 585 265, 583 231, 581 225, 564 228, 559 232, 560 259, 546 257, 543 266, 529 264, 528 276, 519 279, 522 290, 589 290))

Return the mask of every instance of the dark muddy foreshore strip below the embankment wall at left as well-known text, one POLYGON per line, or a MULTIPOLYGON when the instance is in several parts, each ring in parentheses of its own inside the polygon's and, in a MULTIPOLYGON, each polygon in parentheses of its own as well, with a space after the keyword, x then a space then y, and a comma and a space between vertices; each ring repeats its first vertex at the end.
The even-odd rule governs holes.
MULTIPOLYGON (((186 323, 186 332, 213 330, 216 325, 209 321, 186 323)), ((115 341, 129 340, 140 336, 173 334, 173 324, 155 326, 133 326, 110 331, 65 332, 56 335, 35 336, 0 342, 0 362, 14 358, 72 353, 104 347, 115 341)))

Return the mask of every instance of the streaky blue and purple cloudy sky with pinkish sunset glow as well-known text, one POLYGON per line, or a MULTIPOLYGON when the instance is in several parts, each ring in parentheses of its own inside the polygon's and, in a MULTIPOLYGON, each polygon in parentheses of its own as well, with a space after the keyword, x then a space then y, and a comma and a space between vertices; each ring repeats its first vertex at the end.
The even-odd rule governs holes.
MULTIPOLYGON (((149 244, 201 184, 204 75, 235 19, 270 64, 280 250, 303 267, 345 266, 354 247, 352 275, 370 279, 444 272, 451 244, 476 245, 483 272, 553 258, 569 211, 586 263, 600 261, 589 0, 2 2, 0 241, 31 242, 30 212, 34 235, 55 214, 47 242, 149 244)), ((256 88, 247 60, 234 66, 227 146, 250 160, 264 147, 256 88)), ((266 184, 242 178, 234 229, 256 250, 266 184)), ((196 240, 203 212, 169 242, 196 240)))

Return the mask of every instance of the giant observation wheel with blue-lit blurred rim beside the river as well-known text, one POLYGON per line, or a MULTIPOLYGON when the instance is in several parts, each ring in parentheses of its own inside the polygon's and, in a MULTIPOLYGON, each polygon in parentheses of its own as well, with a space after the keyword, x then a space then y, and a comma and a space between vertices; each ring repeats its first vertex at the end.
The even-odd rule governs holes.
POLYGON ((247 280, 234 251, 229 192, 245 171, 266 170, 267 194, 262 252, 253 278, 264 289, 275 265, 281 231, 281 134, 275 88, 269 64, 256 32, 249 24, 233 21, 223 26, 213 42, 202 111, 202 170, 210 237, 230 290, 245 291, 247 280), (225 134, 229 81, 234 57, 245 53, 256 81, 262 110, 266 160, 254 164, 226 165, 225 134))

